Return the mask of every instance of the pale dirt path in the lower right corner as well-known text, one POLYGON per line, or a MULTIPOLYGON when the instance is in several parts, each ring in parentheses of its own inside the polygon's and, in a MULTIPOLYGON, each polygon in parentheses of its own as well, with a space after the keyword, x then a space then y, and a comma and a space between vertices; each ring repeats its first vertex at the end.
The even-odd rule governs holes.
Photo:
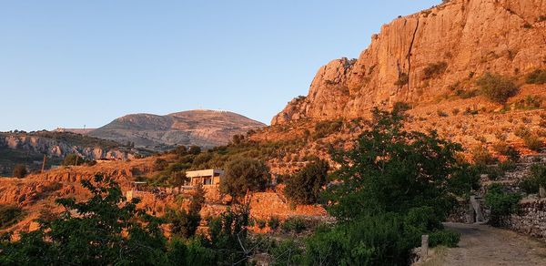
POLYGON ((460 232, 458 248, 443 254, 440 265, 546 265, 546 244, 487 225, 447 223, 460 232))

